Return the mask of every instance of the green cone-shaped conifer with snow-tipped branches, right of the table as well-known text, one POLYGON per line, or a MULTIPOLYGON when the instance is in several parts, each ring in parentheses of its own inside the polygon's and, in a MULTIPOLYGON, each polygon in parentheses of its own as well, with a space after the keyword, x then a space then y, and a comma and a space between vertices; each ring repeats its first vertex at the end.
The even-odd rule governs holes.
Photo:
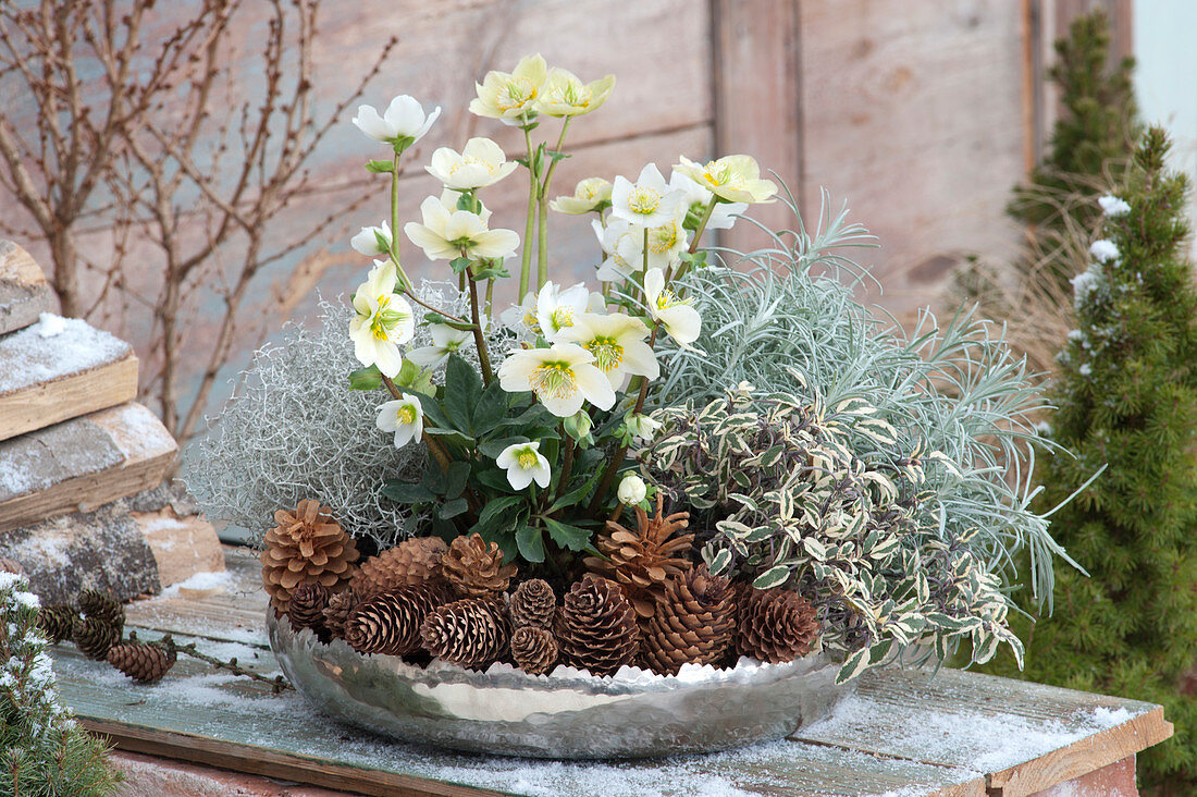
POLYGON ((1161 793, 1197 793, 1197 290, 1186 258, 1186 182, 1165 168, 1153 127, 1104 237, 1074 279, 1078 330, 1061 356, 1052 437, 1076 457, 1046 459, 1055 505, 1108 469, 1053 518, 1090 578, 1058 573, 1055 612, 1027 645, 1025 677, 1165 706, 1174 739, 1141 775, 1161 793))

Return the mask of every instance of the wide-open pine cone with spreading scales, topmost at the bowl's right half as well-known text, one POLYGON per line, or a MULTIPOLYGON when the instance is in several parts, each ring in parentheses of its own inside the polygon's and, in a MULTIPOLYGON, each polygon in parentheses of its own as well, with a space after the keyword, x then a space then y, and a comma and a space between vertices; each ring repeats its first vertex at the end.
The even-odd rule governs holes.
POLYGON ((624 587, 639 617, 651 617, 664 600, 666 579, 688 567, 683 554, 694 543, 694 535, 674 535, 689 525, 688 512, 663 517, 664 496, 657 493, 657 513, 636 507, 637 531, 630 531, 614 520, 607 521, 607 533, 600 535, 596 547, 607 558, 588 556, 583 563, 590 572, 612 579, 624 587))

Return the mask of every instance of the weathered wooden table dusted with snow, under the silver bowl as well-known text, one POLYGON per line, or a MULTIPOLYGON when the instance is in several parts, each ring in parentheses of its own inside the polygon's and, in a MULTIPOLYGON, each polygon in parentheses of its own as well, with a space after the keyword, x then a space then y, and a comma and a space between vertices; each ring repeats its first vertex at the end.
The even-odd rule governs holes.
MULTIPOLYGON (((129 624, 193 636, 273 675, 255 562, 233 549, 226 558, 224 592, 134 604, 129 624)), ((326 719, 293 692, 272 695, 194 660, 148 687, 71 647, 55 648, 55 669, 67 705, 121 750, 366 795, 1014 797, 1061 784, 1046 793, 1134 795, 1135 754, 1172 733, 1152 704, 956 670, 887 670, 782 742, 664 761, 527 761, 378 738, 326 719)), ((129 760, 144 773, 145 760, 129 760)), ((317 793, 238 783, 236 793, 317 793)))

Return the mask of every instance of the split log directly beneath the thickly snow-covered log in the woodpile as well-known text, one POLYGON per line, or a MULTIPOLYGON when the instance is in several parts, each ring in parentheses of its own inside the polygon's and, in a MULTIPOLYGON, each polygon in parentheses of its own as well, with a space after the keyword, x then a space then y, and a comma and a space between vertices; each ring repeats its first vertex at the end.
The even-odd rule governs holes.
POLYGON ((178 446, 140 404, 0 442, 0 532, 156 487, 178 446))

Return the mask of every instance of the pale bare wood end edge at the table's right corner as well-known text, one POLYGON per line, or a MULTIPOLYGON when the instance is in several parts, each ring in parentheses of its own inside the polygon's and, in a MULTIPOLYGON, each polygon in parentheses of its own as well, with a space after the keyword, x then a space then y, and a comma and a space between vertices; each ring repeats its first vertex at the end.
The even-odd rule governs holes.
POLYGON ((1172 733, 1172 723, 1163 718, 1163 707, 1156 706, 1032 761, 990 773, 985 778, 989 793, 991 797, 1026 797, 1142 753, 1172 733))

